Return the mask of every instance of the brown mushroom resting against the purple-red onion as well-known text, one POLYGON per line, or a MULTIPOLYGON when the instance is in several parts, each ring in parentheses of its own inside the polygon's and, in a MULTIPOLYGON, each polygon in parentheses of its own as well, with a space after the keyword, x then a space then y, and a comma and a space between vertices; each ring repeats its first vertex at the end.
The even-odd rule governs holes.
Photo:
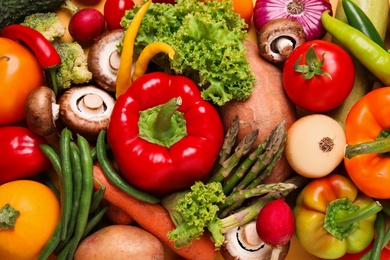
POLYGON ((259 53, 273 63, 283 63, 290 53, 306 41, 302 25, 292 19, 278 18, 257 32, 259 53))

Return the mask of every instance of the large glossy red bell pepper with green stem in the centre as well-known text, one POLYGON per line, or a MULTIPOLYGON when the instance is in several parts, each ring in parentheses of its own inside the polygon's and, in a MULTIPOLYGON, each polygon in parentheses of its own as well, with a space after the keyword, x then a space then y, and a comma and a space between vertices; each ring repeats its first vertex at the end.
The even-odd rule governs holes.
POLYGON ((154 195, 205 181, 224 138, 221 118, 185 76, 148 73, 114 106, 107 139, 126 180, 154 195))

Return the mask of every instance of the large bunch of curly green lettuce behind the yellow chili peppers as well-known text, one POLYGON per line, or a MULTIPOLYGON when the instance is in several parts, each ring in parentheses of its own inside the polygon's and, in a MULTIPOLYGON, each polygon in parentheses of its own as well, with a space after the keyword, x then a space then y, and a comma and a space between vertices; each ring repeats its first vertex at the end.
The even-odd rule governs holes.
MULTIPOLYGON (((128 10, 121 25, 127 29, 140 6, 128 10)), ((176 52, 170 61, 157 55, 154 62, 165 72, 188 76, 198 84, 204 100, 222 106, 243 101, 255 78, 246 60, 243 41, 247 24, 233 11, 232 0, 177 0, 175 5, 152 3, 135 41, 135 52, 161 41, 176 52)))

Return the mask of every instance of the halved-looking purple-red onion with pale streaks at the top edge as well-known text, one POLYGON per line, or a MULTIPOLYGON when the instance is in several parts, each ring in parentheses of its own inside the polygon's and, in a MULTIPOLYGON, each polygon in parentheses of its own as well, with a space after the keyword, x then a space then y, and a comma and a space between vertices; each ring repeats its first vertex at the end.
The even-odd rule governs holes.
POLYGON ((267 22, 276 18, 289 18, 299 22, 306 41, 322 39, 326 30, 321 23, 321 14, 330 10, 329 0, 257 0, 253 10, 253 22, 259 31, 267 22))

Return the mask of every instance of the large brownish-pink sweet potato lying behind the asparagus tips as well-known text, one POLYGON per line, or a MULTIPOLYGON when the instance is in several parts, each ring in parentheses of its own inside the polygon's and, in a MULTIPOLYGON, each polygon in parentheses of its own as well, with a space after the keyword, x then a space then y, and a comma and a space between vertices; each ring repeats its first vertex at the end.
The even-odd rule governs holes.
MULTIPOLYGON (((284 92, 281 69, 261 58, 256 44, 246 41, 245 47, 246 58, 257 80, 254 90, 247 100, 230 101, 218 109, 225 129, 238 114, 240 128, 237 141, 258 128, 256 147, 282 120, 286 120, 286 128, 289 128, 297 119, 297 112, 284 92)), ((283 156, 266 182, 284 181, 291 173, 292 169, 283 156)))

